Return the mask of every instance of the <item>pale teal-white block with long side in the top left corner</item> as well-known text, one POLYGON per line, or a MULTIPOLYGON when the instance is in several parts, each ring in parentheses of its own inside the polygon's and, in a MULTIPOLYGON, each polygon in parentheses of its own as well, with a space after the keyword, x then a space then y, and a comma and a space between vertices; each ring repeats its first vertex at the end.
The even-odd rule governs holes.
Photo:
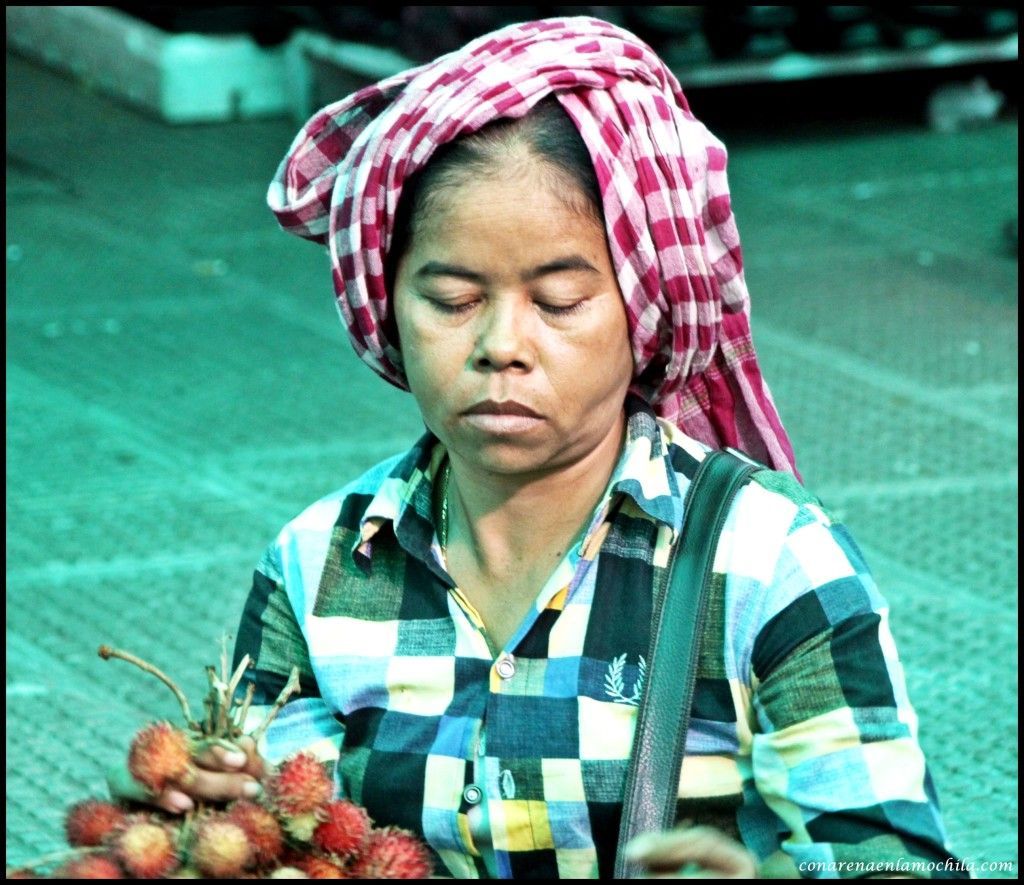
POLYGON ((168 34, 106 6, 7 6, 7 43, 169 123, 294 112, 287 47, 168 34))

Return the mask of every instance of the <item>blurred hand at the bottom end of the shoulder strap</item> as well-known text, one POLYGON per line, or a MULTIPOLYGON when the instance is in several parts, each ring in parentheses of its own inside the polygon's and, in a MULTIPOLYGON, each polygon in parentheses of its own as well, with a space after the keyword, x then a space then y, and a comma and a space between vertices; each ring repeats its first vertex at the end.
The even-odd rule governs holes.
POLYGON ((647 879, 757 879, 758 865, 742 845, 712 827, 645 833, 626 847, 626 856, 647 879))

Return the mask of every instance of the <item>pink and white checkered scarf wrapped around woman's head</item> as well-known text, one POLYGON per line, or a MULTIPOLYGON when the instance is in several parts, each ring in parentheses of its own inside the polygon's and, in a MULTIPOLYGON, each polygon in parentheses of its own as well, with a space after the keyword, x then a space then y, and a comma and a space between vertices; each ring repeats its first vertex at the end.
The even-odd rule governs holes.
POLYGON ((634 389, 690 436, 796 473, 751 338, 725 148, 650 47, 595 18, 495 31, 327 106, 299 132, 267 201, 284 229, 328 246, 356 352, 408 389, 385 337, 402 182, 440 145, 551 94, 597 173, 634 389))

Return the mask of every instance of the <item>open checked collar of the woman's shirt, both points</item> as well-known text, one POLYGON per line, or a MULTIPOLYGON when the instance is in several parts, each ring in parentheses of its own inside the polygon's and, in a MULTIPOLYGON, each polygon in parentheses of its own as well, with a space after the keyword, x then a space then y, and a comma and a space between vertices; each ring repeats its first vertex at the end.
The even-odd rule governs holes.
MULTIPOLYGON (((670 445, 678 441, 680 432, 659 421, 642 398, 634 393, 627 396, 626 444, 587 538, 603 521, 616 496, 623 495, 651 519, 668 525, 675 541, 683 521, 683 496, 670 445)), ((395 465, 359 520, 359 537, 351 550, 356 561, 369 562, 374 538, 390 525, 395 539, 409 553, 428 564, 436 564, 430 555, 435 532, 433 483, 444 456, 444 447, 428 431, 395 465)), ((439 564, 436 567, 443 578, 439 564)))

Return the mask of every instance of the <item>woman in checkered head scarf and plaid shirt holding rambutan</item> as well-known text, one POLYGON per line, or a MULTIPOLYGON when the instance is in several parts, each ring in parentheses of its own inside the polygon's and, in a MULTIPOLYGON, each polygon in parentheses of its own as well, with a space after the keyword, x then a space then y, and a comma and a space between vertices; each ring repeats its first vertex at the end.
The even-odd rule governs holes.
POLYGON ((262 703, 293 664, 302 691, 248 760, 211 753, 157 804, 313 749, 447 875, 609 876, 651 588, 730 446, 775 471, 717 548, 679 789, 700 826, 634 856, 946 860, 885 603, 758 369, 724 149, 646 46, 590 18, 487 35, 319 112, 269 201, 329 246, 356 350, 428 432, 270 546, 236 657, 262 703))

